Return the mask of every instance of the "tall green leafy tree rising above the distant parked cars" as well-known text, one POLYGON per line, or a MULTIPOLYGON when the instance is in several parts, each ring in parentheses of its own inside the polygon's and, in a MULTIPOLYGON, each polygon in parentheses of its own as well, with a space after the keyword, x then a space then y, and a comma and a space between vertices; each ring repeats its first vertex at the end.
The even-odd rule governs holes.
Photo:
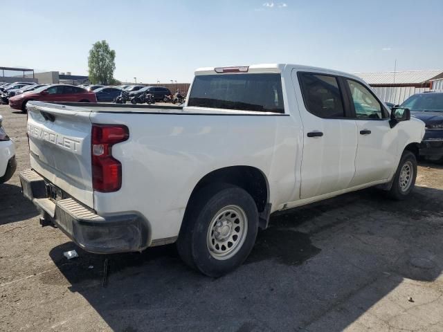
POLYGON ((89 50, 89 82, 92 84, 111 84, 116 70, 116 51, 109 48, 106 40, 96 42, 89 50))

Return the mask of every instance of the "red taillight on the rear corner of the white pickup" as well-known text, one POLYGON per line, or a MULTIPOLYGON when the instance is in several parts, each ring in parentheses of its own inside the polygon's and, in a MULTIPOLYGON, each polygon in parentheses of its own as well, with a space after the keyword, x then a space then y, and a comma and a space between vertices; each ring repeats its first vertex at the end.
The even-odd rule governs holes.
POLYGON ((112 146, 129 138, 126 126, 93 124, 91 135, 92 187, 116 192, 122 186, 122 164, 112 156, 112 146))

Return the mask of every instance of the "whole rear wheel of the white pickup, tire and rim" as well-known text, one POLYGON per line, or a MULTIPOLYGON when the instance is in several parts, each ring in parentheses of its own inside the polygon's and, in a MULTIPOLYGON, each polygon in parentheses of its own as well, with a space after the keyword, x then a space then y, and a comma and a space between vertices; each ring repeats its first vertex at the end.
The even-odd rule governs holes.
POLYGON ((242 188, 214 184, 190 202, 177 248, 189 266, 219 277, 240 266, 251 252, 258 229, 255 201, 242 188))

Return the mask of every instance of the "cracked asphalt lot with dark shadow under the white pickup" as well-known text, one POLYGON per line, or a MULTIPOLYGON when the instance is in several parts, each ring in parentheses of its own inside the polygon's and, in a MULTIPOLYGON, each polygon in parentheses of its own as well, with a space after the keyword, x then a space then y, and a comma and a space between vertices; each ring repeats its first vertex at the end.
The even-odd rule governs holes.
MULTIPOLYGON (((0 114, 26 169, 26 115, 0 114)), ((106 257, 42 228, 17 171, 0 185, 0 330, 443 331, 442 193, 443 167, 421 165, 408 201, 370 189, 273 216, 226 277, 166 246, 108 256, 102 287, 106 257)))

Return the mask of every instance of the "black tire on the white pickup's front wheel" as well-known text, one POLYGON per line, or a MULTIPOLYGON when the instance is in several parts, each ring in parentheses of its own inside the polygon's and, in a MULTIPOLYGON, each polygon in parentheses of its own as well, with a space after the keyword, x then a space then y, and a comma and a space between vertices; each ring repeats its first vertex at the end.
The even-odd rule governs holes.
MULTIPOLYGON (((406 169, 407 174, 407 169, 406 169)), ((406 176, 406 178, 408 178, 406 176)), ((399 162, 399 167, 397 167, 397 172, 395 172, 394 180, 392 182, 392 187, 389 191, 389 196, 391 199, 395 199, 397 201, 401 201, 406 199, 410 192, 413 191, 415 186, 415 179, 417 178, 417 158, 415 158, 415 154, 413 154, 411 151, 404 151, 401 155, 401 159, 399 162), (404 181, 401 181, 402 177, 401 172, 404 170, 405 165, 408 165, 410 172, 412 174, 409 175, 409 182, 406 186, 402 185, 401 183, 405 183, 404 181)))

